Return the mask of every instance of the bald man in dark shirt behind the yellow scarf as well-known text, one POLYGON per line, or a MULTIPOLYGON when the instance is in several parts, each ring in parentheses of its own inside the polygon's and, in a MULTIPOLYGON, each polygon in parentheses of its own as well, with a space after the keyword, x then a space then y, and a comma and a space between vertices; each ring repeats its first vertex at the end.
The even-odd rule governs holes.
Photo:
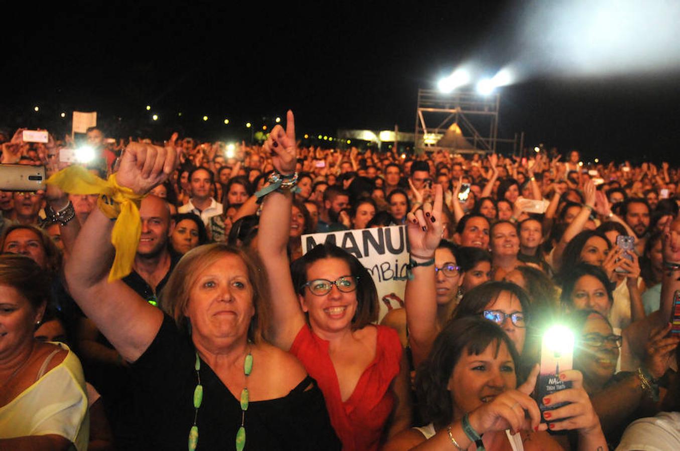
POLYGON ((181 255, 170 251, 168 238, 175 227, 167 202, 157 196, 146 196, 139 208, 141 236, 133 271, 123 278, 149 304, 156 305, 158 293, 165 287, 181 255))

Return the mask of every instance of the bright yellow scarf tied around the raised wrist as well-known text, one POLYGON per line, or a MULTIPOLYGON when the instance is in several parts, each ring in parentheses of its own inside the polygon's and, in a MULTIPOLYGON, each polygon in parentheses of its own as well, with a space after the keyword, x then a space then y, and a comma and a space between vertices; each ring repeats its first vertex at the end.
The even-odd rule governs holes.
POLYGON ((101 194, 97 206, 109 219, 116 219, 111 243, 116 249, 109 282, 117 281, 132 272, 137 253, 141 223, 139 204, 144 196, 116 183, 116 174, 103 180, 82 166, 69 166, 52 175, 46 183, 56 185, 69 194, 101 194))

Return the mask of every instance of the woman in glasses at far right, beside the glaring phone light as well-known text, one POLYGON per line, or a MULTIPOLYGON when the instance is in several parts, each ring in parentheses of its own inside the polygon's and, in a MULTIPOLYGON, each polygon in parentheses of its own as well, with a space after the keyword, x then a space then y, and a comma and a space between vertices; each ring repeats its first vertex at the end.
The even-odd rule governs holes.
POLYGON ((666 336, 669 327, 654 330, 640 367, 615 373, 622 337, 614 333, 607 317, 596 310, 575 310, 566 323, 576 336, 574 369, 583 373, 583 388, 613 449, 630 422, 660 412, 659 401, 667 391, 658 382, 680 338, 666 336))

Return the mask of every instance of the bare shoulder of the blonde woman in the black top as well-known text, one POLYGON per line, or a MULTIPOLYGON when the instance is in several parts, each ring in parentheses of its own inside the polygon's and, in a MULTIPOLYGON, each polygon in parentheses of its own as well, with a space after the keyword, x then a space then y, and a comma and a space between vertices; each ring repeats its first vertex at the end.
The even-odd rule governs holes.
POLYGON ((271 388, 280 396, 286 396, 304 378, 307 377, 307 370, 293 355, 271 344, 258 344, 256 355, 253 356, 253 367, 260 365, 266 371, 264 374, 271 388), (259 357, 259 359, 258 359, 259 357), (256 360, 260 360, 257 362, 256 360))

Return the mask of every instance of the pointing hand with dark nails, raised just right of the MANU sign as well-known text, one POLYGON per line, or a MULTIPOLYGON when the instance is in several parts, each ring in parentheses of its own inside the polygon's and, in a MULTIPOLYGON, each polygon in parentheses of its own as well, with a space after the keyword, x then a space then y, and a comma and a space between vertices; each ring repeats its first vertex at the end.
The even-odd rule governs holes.
POLYGON ((426 202, 422 210, 409 213, 406 217, 409 247, 414 257, 429 259, 435 255, 435 249, 439 246, 443 223, 441 221, 442 188, 435 185, 435 204, 426 202))

